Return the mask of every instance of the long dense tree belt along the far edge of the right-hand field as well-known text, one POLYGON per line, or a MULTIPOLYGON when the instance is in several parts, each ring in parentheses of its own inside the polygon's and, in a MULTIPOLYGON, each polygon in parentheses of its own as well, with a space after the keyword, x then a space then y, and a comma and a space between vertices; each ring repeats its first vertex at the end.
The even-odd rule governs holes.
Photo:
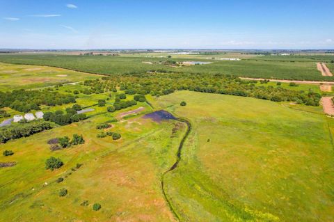
MULTIPOLYGON (((311 106, 319 105, 321 98, 319 93, 314 93, 310 90, 287 89, 281 87, 280 84, 277 86, 265 86, 267 82, 268 80, 262 80, 262 85, 258 86, 256 85, 257 81, 241 80, 237 77, 224 74, 157 72, 154 74, 132 73, 102 77, 102 79, 90 81, 90 86, 102 86, 104 91, 119 87, 120 90, 125 91, 126 95, 134 95, 136 101, 143 101, 145 95, 148 94, 160 96, 173 93, 175 90, 191 90, 202 93, 256 97, 276 102, 291 101, 311 106), (139 98, 141 99, 139 100, 139 98)), ((113 108, 110 108, 110 110, 113 110, 113 108)))

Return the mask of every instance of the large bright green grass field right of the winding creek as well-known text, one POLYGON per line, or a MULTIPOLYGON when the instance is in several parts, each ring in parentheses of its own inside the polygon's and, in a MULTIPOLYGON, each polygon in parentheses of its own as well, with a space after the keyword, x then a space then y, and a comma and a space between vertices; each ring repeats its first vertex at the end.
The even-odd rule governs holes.
POLYGON ((182 220, 333 219, 334 122, 321 107, 186 91, 153 103, 193 125, 165 181, 182 220))

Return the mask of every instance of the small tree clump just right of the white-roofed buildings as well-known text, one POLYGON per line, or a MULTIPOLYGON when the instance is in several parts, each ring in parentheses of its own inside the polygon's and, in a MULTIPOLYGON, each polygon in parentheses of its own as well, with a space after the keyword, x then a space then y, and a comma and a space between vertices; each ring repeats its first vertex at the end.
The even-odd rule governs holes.
POLYGON ((53 112, 45 112, 44 120, 56 122, 58 125, 67 125, 71 122, 79 122, 80 120, 86 120, 87 116, 84 113, 77 113, 77 111, 81 110, 81 106, 78 104, 74 104, 72 108, 67 108, 66 113, 61 110, 57 110, 53 112))

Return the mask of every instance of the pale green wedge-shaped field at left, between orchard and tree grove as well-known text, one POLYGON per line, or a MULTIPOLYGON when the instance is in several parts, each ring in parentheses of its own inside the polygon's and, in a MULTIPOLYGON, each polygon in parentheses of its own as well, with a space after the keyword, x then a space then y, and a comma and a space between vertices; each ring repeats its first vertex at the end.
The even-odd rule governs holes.
POLYGON ((61 68, 0 63, 0 90, 29 89, 100 78, 61 68))

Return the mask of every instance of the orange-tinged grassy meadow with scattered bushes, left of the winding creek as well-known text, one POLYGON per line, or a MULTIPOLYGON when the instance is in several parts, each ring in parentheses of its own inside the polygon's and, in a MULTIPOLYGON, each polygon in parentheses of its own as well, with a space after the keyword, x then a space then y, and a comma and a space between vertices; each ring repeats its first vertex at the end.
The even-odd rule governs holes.
POLYGON ((175 161, 184 126, 135 116, 112 122, 109 129, 95 129, 117 114, 95 115, 1 145, 1 152, 15 154, 0 161, 17 162, 0 169, 1 221, 173 221, 161 195, 160 175, 175 161), (103 130, 119 132, 122 138, 97 138, 103 130), (75 133, 84 136, 84 145, 49 150, 49 139, 75 133), (51 156, 60 157, 64 166, 45 170, 51 156), (75 169, 76 164, 83 165, 75 169), (57 183, 58 177, 65 180, 57 183), (65 197, 58 196, 62 188, 68 191, 65 197), (88 206, 81 205, 84 200, 88 206), (102 209, 93 211, 93 203, 102 209))

